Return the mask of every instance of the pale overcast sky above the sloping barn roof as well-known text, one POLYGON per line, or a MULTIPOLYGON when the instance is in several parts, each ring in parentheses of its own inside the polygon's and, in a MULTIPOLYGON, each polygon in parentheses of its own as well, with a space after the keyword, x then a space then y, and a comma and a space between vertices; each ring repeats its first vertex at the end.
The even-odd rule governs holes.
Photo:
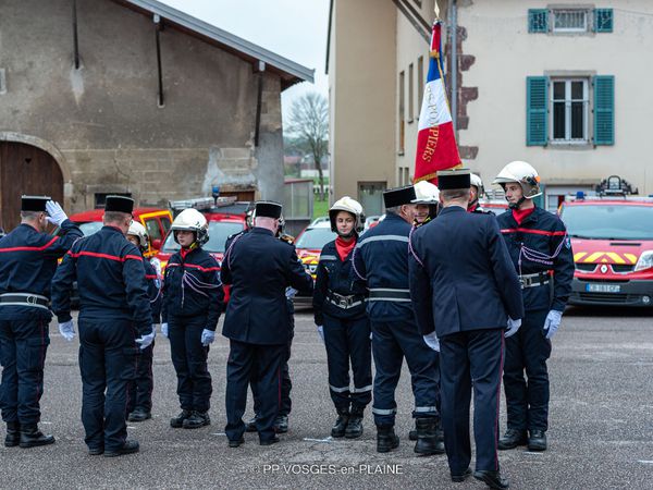
POLYGON ((159 0, 316 71, 316 84, 282 94, 284 117, 307 91, 329 94, 324 75, 329 0, 159 0))

